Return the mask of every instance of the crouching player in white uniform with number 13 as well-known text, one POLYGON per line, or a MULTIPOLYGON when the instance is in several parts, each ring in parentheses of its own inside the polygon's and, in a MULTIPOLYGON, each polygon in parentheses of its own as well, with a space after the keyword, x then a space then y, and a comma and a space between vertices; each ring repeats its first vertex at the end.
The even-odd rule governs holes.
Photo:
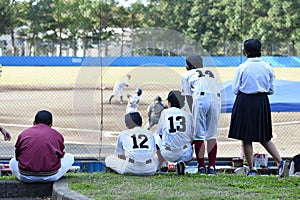
POLYGON ((185 163, 193 157, 192 115, 181 109, 184 96, 179 90, 170 91, 167 100, 168 108, 162 111, 156 130, 158 156, 162 166, 160 168, 164 170, 166 161, 177 162, 177 173, 183 175, 185 163))

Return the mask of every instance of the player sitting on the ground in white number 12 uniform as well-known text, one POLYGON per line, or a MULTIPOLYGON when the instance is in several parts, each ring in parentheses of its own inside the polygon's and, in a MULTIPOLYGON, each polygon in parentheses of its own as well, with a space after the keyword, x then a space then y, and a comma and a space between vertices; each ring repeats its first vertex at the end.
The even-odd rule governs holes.
POLYGON ((119 174, 154 175, 158 160, 153 133, 141 128, 138 112, 126 114, 125 123, 128 130, 119 134, 115 155, 106 157, 106 167, 119 174))

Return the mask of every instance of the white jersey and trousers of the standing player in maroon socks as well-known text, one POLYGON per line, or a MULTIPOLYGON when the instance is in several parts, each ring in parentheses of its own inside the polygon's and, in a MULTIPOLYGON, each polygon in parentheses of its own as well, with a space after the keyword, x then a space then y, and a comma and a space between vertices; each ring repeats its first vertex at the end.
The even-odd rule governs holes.
POLYGON ((193 97, 194 139, 216 139, 221 93, 213 71, 208 68, 189 70, 184 74, 181 84, 182 95, 193 97))

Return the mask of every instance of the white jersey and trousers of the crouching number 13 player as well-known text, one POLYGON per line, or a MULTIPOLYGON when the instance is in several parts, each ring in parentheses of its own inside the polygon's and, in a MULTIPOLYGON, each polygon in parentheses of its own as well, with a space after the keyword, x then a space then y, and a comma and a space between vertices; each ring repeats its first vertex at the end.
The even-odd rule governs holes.
POLYGON ((189 161, 192 159, 193 149, 193 121, 192 115, 176 107, 164 109, 158 125, 156 142, 162 156, 167 161, 189 161))

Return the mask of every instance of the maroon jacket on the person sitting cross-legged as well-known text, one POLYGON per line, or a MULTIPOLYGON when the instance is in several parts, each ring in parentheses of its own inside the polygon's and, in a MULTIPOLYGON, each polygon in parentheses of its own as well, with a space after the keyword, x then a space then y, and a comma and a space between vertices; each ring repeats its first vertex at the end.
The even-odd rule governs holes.
POLYGON ((64 156, 63 136, 46 124, 36 124, 25 129, 15 145, 19 170, 32 175, 53 174, 60 168, 64 156))

